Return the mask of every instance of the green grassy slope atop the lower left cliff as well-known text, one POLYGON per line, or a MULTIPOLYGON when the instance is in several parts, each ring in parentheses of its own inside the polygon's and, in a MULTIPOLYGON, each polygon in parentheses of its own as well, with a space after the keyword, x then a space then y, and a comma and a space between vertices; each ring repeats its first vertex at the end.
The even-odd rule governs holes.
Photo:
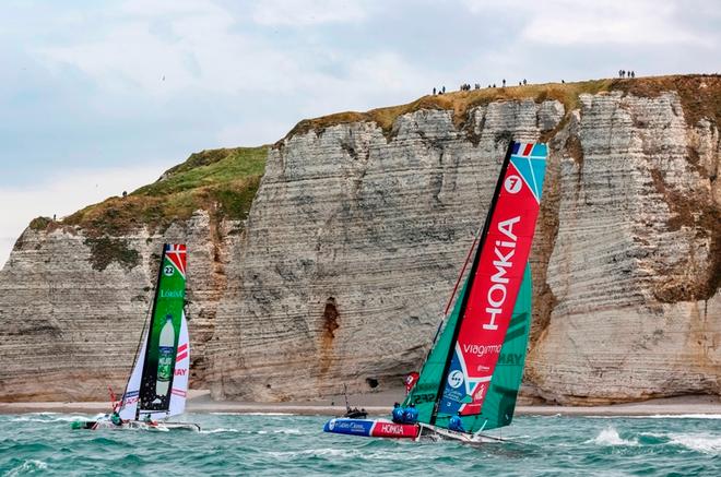
POLYGON ((265 169, 268 146, 203 151, 126 198, 110 198, 66 217, 91 237, 122 236, 149 226, 164 230, 205 210, 212 218, 246 218, 265 169))

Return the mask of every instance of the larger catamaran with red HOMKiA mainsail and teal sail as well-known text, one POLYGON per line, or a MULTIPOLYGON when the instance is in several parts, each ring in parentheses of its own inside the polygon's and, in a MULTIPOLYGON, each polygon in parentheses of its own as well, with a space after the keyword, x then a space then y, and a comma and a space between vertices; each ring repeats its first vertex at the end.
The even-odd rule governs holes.
MULTIPOLYGON (((511 142, 508 147, 477 248, 474 242, 471 250, 471 270, 403 402, 417 409, 417 420, 335 418, 326 424, 326 432, 499 439, 484 432, 511 424, 521 385, 531 327, 528 262, 547 155, 546 144, 511 142)), ((464 271, 465 264, 459 282, 464 271)))

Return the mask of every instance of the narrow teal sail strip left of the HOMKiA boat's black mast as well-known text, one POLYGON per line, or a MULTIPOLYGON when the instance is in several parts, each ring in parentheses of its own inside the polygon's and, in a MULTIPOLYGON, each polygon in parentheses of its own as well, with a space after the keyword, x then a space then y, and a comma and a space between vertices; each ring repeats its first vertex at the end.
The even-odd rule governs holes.
POLYGON ((453 310, 448 315, 440 336, 436 339, 428 358, 423 363, 418 381, 407 396, 405 396, 405 401, 403 401, 403 406, 409 406, 411 403, 415 404, 416 409, 418 409, 418 422, 430 422, 430 415, 438 397, 440 381, 442 380, 444 369, 446 368, 446 359, 449 355, 448 350, 454 345, 453 332, 458 325, 458 315, 469 281, 470 278, 466 278, 461 293, 456 298, 453 310))

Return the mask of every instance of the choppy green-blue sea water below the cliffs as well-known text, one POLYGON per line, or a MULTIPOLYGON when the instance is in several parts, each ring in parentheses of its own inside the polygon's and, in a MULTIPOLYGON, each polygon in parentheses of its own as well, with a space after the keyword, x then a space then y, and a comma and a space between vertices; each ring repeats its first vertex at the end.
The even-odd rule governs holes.
POLYGON ((323 433, 323 416, 186 415, 201 432, 70 429, 87 417, 0 415, 0 475, 721 476, 721 416, 519 416, 504 429, 510 441, 478 446, 323 433))

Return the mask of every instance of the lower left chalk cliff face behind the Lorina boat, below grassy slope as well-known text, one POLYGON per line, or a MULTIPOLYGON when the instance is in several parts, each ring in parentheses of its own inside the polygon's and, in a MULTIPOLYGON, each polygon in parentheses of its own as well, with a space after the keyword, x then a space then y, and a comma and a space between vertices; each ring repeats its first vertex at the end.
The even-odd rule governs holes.
POLYGON ((192 250, 191 385, 203 385, 223 276, 222 251, 199 212, 164 236, 139 230, 96 240, 68 228, 25 230, 0 273, 0 400, 105 400, 108 385, 122 392, 164 240, 192 250))

